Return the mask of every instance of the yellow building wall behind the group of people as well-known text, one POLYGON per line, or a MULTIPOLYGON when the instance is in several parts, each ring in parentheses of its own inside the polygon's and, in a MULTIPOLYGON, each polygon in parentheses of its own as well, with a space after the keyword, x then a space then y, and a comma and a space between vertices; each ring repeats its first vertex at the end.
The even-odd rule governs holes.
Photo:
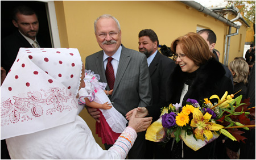
MULTIPOLYGON (((170 47, 177 37, 196 32, 197 26, 210 28, 217 35, 216 49, 221 52, 220 62, 224 60, 224 40, 228 27, 179 1, 55 1, 55 9, 61 47, 78 48, 83 62, 86 56, 101 50, 94 35, 93 23, 102 14, 111 14, 119 20, 122 44, 135 50, 138 50, 138 33, 143 29, 154 30, 159 43, 170 47)), ((243 37, 245 33, 241 35, 243 37)), ((237 39, 232 37, 230 53, 240 55, 235 46, 237 39)), ((232 58, 230 56, 229 61, 232 58)), ((86 111, 82 111, 81 116, 94 134, 95 120, 86 111)), ((94 137, 101 144, 100 138, 95 134, 94 137)))

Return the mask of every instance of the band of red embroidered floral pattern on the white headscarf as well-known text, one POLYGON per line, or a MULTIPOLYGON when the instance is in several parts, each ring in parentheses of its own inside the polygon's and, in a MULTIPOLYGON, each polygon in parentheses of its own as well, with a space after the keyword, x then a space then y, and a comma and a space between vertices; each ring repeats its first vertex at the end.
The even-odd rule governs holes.
POLYGON ((10 98, 1 103, 1 126, 32 120, 33 116, 52 115, 56 111, 63 112, 77 108, 75 95, 64 87, 28 92, 26 98, 13 96, 13 99, 14 104, 10 98), (71 103, 68 100, 71 100, 71 103))

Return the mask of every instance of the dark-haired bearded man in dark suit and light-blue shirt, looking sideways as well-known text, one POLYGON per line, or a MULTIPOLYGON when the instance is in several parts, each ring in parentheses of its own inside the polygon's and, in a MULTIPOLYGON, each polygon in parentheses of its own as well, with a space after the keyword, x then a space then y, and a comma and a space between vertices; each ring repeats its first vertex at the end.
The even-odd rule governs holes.
MULTIPOLYGON (((153 91, 152 104, 159 104, 166 102, 167 87, 166 82, 170 77, 176 64, 171 58, 164 56, 158 51, 159 40, 158 36, 153 30, 142 30, 139 32, 139 52, 147 56, 148 70, 150 71, 151 85, 153 91)), ((160 107, 159 113, 160 115, 160 107)), ((157 119, 154 119, 155 121, 157 119)), ((160 153, 163 150, 156 142, 146 140, 146 159, 162 159, 160 153)))

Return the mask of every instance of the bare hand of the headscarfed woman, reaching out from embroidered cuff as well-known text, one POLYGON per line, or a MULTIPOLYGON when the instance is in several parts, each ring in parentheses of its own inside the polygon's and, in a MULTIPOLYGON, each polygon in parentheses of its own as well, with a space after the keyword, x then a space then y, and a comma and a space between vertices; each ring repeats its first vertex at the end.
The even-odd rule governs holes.
POLYGON ((134 110, 130 117, 128 126, 132 127, 138 133, 146 130, 148 126, 150 126, 152 117, 141 118, 137 117, 137 114, 137 110, 134 110))

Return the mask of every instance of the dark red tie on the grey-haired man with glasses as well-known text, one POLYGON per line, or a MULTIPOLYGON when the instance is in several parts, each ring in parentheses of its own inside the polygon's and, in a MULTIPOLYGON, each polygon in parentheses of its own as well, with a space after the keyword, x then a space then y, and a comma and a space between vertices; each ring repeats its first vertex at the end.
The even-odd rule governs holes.
POLYGON ((112 90, 114 88, 114 82, 115 82, 115 74, 114 74, 114 69, 111 64, 111 61, 113 60, 112 57, 108 57, 108 64, 106 66, 106 79, 108 81, 109 89, 112 90))

